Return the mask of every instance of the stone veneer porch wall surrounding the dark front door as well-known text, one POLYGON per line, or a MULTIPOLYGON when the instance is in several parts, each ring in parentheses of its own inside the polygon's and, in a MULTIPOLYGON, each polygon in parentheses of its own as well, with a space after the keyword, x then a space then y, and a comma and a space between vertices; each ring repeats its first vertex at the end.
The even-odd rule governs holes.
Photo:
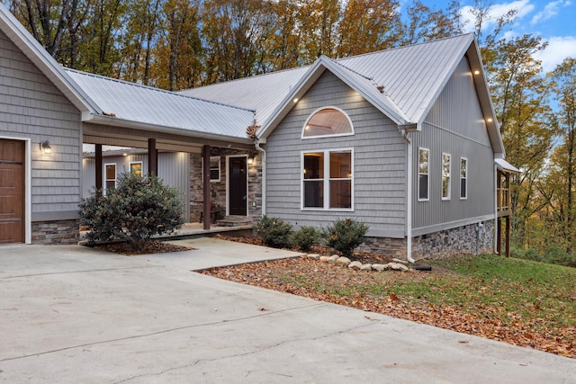
MULTIPOLYGON (((210 156, 220 156, 220 181, 210 183, 211 202, 221 211, 221 216, 226 214, 226 156, 242 156, 246 152, 211 147, 210 156)), ((247 165, 248 169, 248 216, 253 220, 262 215, 262 156, 254 153, 254 164, 247 165), (256 207, 255 207, 256 203, 256 207)), ((190 156, 190 221, 199 222, 203 201, 202 185, 202 155, 190 156)))

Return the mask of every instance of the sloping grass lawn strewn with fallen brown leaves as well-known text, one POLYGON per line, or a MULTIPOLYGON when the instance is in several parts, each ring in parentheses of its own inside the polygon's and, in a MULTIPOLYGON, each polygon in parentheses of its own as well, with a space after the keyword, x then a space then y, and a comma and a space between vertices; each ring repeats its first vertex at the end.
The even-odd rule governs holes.
POLYGON ((428 264, 365 272, 301 257, 206 273, 576 358, 576 269, 496 255, 428 264))

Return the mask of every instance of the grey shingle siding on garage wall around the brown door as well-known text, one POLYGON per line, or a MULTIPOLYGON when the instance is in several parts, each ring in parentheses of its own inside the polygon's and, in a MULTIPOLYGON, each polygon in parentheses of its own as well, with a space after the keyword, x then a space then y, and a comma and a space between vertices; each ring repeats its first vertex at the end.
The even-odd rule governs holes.
POLYGON ((0 32, 0 137, 31 141, 31 221, 76 219, 80 200, 80 112, 0 32), (49 140, 52 153, 40 151, 49 140))

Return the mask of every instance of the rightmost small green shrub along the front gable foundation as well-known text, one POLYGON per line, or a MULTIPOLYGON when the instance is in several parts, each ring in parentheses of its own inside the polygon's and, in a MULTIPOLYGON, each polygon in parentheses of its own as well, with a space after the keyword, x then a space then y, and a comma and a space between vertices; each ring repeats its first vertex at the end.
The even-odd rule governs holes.
POLYGON ((356 246, 365 242, 368 226, 355 219, 338 219, 333 225, 322 230, 321 236, 326 245, 350 257, 356 246))

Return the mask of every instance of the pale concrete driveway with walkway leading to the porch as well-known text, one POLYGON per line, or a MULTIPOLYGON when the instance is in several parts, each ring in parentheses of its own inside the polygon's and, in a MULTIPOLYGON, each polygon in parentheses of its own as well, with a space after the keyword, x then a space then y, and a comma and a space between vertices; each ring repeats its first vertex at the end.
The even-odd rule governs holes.
POLYGON ((183 242, 0 246, 0 381, 576 383, 576 360, 191 272, 293 253, 183 242))

